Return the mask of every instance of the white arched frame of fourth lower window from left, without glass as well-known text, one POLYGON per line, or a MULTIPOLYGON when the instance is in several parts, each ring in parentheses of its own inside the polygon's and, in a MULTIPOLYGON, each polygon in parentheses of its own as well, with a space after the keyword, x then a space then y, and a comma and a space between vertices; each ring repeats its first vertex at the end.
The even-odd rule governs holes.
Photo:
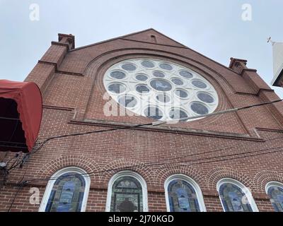
POLYGON ((245 196, 247 197, 248 203, 250 204, 250 207, 252 208, 253 212, 259 212, 258 206, 256 205, 255 200, 253 198, 253 195, 250 193, 250 190, 245 185, 243 185, 241 182, 238 182, 236 179, 231 179, 231 178, 221 179, 216 184, 216 189, 218 191, 219 199, 220 199, 221 206, 222 206, 224 212, 226 212, 226 210, 224 208, 224 205, 223 205, 223 202, 222 202, 222 199, 221 199, 221 194, 219 192, 219 189, 220 189, 222 184, 226 184, 226 183, 238 186, 238 188, 241 189, 243 194, 245 194, 245 196))

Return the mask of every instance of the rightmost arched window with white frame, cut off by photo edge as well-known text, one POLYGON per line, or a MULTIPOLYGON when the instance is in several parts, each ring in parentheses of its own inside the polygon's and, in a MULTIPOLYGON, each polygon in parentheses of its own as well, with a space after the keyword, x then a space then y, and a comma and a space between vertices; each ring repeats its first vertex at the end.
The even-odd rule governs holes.
POLYGON ((283 212, 283 184, 269 182, 265 186, 265 191, 270 196, 270 201, 275 211, 283 212))

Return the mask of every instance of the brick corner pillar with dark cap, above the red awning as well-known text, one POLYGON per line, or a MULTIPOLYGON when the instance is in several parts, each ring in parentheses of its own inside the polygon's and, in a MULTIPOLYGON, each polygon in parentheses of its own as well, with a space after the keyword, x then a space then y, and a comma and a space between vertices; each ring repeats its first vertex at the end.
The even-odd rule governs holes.
POLYGON ((25 81, 37 83, 43 94, 67 52, 74 47, 74 35, 58 34, 58 42, 51 42, 51 47, 30 71, 25 81))

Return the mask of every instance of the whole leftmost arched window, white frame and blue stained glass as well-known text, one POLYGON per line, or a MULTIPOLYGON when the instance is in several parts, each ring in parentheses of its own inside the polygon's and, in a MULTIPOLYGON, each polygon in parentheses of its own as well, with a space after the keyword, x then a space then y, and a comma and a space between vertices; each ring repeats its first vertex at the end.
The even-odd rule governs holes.
POLYGON ((90 179, 83 169, 67 167, 59 170, 47 184, 40 212, 85 211, 89 186, 90 179))

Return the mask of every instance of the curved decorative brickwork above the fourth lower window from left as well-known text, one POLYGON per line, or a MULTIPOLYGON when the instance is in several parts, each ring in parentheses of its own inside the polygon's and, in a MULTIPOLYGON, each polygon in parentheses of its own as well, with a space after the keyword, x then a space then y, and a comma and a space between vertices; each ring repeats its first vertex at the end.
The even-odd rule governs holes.
POLYGON ((220 179, 231 178, 244 184, 247 188, 254 189, 253 179, 238 172, 231 167, 216 167, 207 173, 207 189, 216 190, 216 184, 220 179))

